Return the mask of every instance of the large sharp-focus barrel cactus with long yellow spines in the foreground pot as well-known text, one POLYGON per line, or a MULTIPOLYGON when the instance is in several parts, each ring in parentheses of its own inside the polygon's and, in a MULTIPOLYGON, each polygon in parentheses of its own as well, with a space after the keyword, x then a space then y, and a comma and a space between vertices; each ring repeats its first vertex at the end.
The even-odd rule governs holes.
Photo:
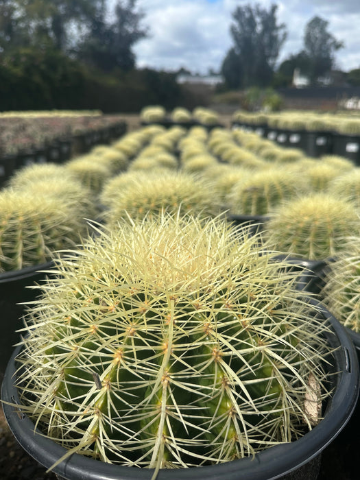
POLYGON ((219 218, 99 232, 27 311, 22 408, 69 455, 156 470, 295 440, 328 348, 283 267, 219 218))

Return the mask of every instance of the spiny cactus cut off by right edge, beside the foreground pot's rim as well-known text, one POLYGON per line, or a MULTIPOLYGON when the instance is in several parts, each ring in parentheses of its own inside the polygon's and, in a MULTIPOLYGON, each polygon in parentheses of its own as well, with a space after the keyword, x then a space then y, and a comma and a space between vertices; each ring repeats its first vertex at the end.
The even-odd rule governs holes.
POLYGON ((340 252, 321 291, 324 304, 355 333, 360 333, 360 246, 359 237, 350 237, 340 252))

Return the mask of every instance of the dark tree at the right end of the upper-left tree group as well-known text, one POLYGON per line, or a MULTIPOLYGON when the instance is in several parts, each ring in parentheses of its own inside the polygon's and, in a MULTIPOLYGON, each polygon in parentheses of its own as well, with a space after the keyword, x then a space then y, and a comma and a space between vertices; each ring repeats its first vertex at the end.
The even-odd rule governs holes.
POLYGON ((118 0, 114 10, 115 21, 106 23, 105 16, 103 10, 94 19, 78 55, 88 64, 104 71, 115 68, 130 70, 135 65, 132 47, 148 33, 147 28, 140 25, 143 12, 136 10, 136 0, 118 0))

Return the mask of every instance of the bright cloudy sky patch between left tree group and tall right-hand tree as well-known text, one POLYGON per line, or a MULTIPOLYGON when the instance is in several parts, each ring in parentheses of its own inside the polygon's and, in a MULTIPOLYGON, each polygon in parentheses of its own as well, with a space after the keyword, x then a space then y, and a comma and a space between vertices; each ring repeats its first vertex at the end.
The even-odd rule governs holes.
POLYGON ((146 12, 150 37, 134 48, 139 67, 206 72, 218 69, 230 48, 230 16, 221 1, 138 2, 146 12))

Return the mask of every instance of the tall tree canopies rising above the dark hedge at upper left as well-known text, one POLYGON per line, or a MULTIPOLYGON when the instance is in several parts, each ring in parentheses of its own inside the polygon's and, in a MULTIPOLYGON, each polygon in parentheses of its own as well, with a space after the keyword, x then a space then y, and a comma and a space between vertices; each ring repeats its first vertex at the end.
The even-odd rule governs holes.
POLYGON ((132 69, 132 47, 147 35, 136 1, 108 12, 106 0, 0 0, 0 53, 56 49, 104 71, 132 69))

